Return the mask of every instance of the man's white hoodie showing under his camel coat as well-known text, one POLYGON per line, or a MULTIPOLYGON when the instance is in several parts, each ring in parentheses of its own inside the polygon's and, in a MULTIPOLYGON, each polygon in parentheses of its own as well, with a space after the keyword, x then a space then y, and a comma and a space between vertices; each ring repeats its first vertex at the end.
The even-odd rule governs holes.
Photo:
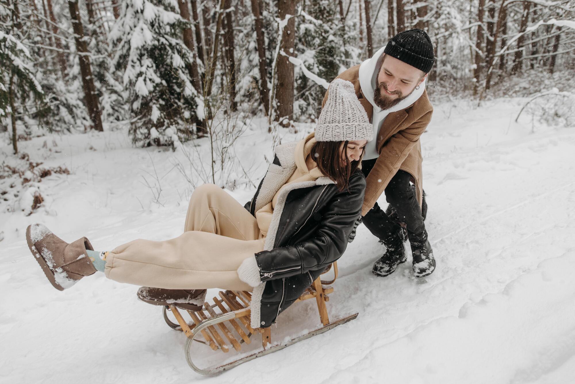
POLYGON ((365 146, 365 154, 363 155, 363 160, 370 160, 375 159, 379 156, 379 152, 377 151, 377 137, 379 133, 379 129, 382 126, 385 118, 391 112, 397 112, 399 110, 405 109, 408 106, 412 105, 423 95, 423 91, 425 90, 425 82, 427 79, 423 80, 423 83, 419 85, 419 89, 413 91, 411 95, 403 99, 402 101, 398 102, 397 105, 394 105, 388 109, 381 109, 373 102, 373 90, 377 86, 377 76, 379 73, 377 72, 377 68, 379 68, 379 64, 381 64, 381 60, 384 57, 384 47, 379 49, 379 51, 375 52, 375 55, 371 57, 371 59, 365 60, 359 66, 359 86, 361 87, 363 96, 373 105, 373 139, 368 141, 365 146))

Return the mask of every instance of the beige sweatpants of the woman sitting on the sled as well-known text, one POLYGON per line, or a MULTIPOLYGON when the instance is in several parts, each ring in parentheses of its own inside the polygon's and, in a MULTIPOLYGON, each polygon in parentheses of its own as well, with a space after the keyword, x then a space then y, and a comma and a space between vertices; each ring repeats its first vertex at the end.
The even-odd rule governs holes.
POLYGON ((263 250, 255 217, 213 184, 198 187, 187 208, 184 233, 166 241, 134 240, 106 258, 106 277, 166 288, 247 290, 237 276, 244 259, 263 250))

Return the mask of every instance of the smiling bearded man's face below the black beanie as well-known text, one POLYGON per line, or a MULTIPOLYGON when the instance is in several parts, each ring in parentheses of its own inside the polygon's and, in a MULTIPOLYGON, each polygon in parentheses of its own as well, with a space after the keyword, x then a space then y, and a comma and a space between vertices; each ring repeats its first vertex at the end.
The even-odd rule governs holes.
POLYGON ((389 109, 405 99, 423 83, 427 74, 395 57, 385 55, 377 76, 373 101, 381 109, 389 109))

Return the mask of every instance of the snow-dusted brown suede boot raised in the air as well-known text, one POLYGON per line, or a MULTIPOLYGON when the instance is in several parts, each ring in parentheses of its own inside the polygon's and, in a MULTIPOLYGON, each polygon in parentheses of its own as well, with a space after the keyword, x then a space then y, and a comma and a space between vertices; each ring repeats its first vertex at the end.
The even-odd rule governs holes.
POLYGON ((79 279, 96 272, 86 254, 86 249, 94 250, 86 237, 68 244, 45 225, 32 224, 26 228, 26 240, 30 252, 57 290, 70 288, 79 279))

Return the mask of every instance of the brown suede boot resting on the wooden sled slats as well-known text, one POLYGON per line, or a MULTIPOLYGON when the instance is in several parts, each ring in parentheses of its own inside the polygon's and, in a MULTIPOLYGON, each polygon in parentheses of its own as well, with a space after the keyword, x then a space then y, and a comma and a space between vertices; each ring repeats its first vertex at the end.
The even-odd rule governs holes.
POLYGON ((205 289, 163 289, 140 287, 138 298, 154 305, 175 305, 178 308, 197 311, 202 309, 206 299, 205 289))

